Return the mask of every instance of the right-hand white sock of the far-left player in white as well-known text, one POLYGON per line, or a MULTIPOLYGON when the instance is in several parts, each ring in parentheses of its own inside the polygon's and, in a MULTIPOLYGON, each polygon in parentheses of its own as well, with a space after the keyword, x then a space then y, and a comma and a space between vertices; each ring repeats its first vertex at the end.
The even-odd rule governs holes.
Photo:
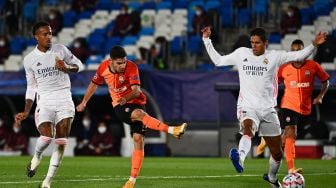
POLYGON ((50 158, 48 173, 46 178, 44 179, 44 181, 46 181, 49 184, 52 181, 53 177, 55 176, 58 167, 61 165, 66 142, 67 142, 66 138, 55 139, 56 144, 55 151, 53 152, 50 158))

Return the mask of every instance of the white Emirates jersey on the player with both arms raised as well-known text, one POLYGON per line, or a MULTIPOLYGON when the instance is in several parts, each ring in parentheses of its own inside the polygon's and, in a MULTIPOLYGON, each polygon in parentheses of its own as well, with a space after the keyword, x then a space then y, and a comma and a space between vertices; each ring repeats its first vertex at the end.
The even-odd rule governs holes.
POLYGON ((216 66, 236 65, 239 74, 238 107, 265 109, 277 105, 279 66, 289 61, 301 61, 314 50, 309 45, 301 51, 266 50, 263 55, 256 56, 252 49, 241 47, 228 55, 220 55, 213 47, 211 40, 203 38, 210 59, 216 66))

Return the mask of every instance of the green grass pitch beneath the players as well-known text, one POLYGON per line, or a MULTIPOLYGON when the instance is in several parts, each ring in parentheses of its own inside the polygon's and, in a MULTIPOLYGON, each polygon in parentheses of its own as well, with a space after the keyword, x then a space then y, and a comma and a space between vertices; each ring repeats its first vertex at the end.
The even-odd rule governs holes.
MULTIPOLYGON (((25 176, 30 157, 0 157, 0 188, 37 188, 47 173, 44 157, 33 178, 25 176)), ((335 188, 336 160, 297 160, 303 167, 306 188, 335 188)), ((238 175, 227 158, 146 157, 136 188, 268 188, 262 174, 268 159, 247 159, 238 175)), ((286 174, 283 161, 279 178, 286 174)), ((53 188, 120 188, 128 179, 130 158, 65 157, 53 188)))

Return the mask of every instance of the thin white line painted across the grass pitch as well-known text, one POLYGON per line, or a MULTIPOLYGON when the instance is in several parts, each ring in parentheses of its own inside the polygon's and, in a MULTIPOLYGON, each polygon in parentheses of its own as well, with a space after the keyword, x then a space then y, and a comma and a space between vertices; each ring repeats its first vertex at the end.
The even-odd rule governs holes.
MULTIPOLYGON (((279 174, 284 175, 284 174, 279 174)), ((332 173, 305 173, 304 176, 321 176, 321 175, 336 175, 336 172, 332 173)), ((128 176, 115 176, 115 177, 106 177, 104 178, 89 178, 89 176, 76 176, 78 178, 84 179, 69 179, 69 180, 54 180, 54 182, 83 182, 83 181, 107 181, 107 180, 125 180, 128 176), (88 178, 86 178, 88 177, 88 178)), ((260 174, 236 174, 236 175, 222 175, 222 176, 139 176, 140 179, 204 179, 204 178, 234 178, 234 177, 261 177, 260 174)), ((0 182, 0 184, 32 184, 40 183, 41 181, 15 181, 15 182, 0 182)))

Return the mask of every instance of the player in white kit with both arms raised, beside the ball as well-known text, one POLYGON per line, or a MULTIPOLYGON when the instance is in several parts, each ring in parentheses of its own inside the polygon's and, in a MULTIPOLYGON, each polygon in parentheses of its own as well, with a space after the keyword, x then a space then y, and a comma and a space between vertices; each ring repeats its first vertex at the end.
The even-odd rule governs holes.
POLYGON ((241 47, 227 55, 220 55, 209 39, 210 27, 203 30, 203 42, 216 66, 236 65, 239 74, 239 97, 237 117, 240 122, 238 149, 231 149, 230 158, 238 173, 244 170, 244 160, 251 149, 251 138, 259 131, 270 148, 269 172, 263 179, 271 187, 281 187, 277 179, 282 158, 281 128, 275 110, 277 105, 278 81, 277 72, 280 65, 290 61, 301 61, 307 58, 319 44, 326 40, 326 33, 319 32, 313 43, 301 51, 286 52, 266 50, 267 36, 262 28, 250 32, 252 49, 241 47))

